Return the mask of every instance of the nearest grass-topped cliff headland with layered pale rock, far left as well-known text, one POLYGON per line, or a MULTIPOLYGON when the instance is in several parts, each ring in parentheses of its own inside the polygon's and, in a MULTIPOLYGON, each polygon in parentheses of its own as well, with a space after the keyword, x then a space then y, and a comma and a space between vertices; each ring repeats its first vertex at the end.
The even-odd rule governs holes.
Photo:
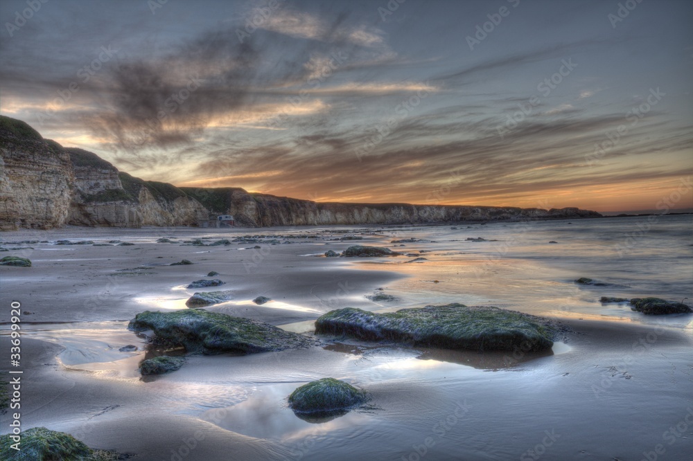
POLYGON ((74 181, 69 154, 26 123, 4 119, 0 118, 0 229, 62 226, 74 181))

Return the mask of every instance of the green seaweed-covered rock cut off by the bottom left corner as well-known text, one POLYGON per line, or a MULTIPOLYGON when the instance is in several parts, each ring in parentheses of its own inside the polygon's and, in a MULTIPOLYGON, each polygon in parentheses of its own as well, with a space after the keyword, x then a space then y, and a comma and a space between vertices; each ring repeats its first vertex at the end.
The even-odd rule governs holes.
POLYGON ((72 435, 35 427, 22 431, 20 451, 11 434, 0 436, 0 459, 8 461, 106 461, 117 460, 118 454, 92 450, 72 435))

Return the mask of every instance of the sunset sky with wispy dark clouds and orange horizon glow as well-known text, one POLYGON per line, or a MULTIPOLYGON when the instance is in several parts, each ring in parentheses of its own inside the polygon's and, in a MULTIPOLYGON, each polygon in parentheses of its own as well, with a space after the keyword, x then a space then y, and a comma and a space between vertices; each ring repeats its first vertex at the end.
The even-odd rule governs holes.
POLYGON ((692 22, 687 0, 2 0, 0 114, 176 186, 676 210, 692 22))

